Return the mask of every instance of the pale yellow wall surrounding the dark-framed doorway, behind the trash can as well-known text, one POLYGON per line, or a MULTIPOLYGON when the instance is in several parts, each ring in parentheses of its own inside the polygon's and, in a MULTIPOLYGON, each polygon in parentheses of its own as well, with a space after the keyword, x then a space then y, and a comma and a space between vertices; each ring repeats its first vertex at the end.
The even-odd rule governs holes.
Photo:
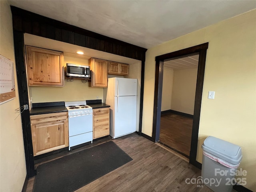
POLYGON ((152 136, 155 57, 209 42, 206 56, 198 153, 207 136, 242 147, 239 166, 246 188, 256 191, 256 10, 181 36, 146 52, 142 132, 152 136), (215 99, 208 99, 215 91, 215 99))

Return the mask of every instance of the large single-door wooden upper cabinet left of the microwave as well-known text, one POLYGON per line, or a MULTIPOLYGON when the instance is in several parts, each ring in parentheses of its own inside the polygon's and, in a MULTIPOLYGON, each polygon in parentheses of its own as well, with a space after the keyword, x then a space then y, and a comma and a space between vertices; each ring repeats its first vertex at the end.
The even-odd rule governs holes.
POLYGON ((26 46, 29 86, 63 86, 63 53, 26 46))

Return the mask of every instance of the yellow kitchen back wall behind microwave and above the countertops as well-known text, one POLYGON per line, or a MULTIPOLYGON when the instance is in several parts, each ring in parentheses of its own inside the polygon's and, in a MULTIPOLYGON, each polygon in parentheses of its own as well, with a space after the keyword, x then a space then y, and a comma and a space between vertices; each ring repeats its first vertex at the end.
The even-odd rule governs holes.
MULTIPOLYGON (((63 66, 66 63, 74 63, 88 65, 88 60, 73 56, 64 56, 63 66)), ((79 101, 79 100, 103 100, 103 88, 92 88, 88 86, 88 82, 82 83, 81 80, 75 79, 73 82, 65 80, 64 87, 46 87, 46 86, 30 86, 33 103, 38 102, 56 102, 56 101, 79 101)))

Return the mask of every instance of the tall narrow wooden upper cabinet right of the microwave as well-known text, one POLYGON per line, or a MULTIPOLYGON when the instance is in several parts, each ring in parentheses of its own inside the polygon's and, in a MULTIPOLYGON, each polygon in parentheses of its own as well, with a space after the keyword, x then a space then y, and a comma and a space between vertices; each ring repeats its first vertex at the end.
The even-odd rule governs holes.
POLYGON ((90 87, 107 87, 108 86, 108 62, 106 60, 90 58, 89 66, 92 70, 90 87))

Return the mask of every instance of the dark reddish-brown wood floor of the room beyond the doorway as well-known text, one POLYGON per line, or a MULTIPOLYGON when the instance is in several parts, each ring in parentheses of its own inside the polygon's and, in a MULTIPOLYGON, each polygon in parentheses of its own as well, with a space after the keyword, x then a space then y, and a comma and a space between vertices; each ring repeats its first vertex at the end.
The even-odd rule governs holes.
POLYGON ((161 115, 160 143, 189 157, 193 118, 168 113, 161 115))

